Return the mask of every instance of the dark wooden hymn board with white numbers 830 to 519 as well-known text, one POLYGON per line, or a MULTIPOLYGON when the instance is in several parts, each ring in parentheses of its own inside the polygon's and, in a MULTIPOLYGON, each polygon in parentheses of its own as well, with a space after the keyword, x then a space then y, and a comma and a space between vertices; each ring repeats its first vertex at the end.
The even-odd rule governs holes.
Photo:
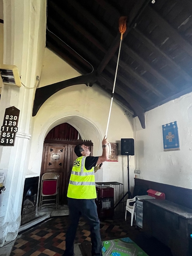
POLYGON ((0 145, 14 146, 16 133, 18 131, 19 112, 20 110, 14 106, 5 109, 5 116, 1 127, 0 145))

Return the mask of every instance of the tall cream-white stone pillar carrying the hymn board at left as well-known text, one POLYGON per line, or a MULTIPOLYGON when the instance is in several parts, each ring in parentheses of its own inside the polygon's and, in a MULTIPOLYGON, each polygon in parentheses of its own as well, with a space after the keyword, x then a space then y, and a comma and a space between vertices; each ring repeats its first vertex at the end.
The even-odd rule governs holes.
POLYGON ((0 146, 0 172, 7 170, 6 190, 0 195, 0 247, 13 241, 21 222, 25 176, 30 157, 30 133, 36 77, 40 77, 45 49, 46 0, 6 0, 3 2, 3 63, 16 65, 23 85, 3 85, 0 101, 0 126, 5 109, 20 110, 14 147, 0 146))

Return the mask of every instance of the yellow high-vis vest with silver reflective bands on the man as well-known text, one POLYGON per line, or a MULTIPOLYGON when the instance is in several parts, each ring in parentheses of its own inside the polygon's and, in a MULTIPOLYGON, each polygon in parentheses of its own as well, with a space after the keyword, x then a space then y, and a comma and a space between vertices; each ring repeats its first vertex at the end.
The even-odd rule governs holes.
POLYGON ((86 156, 78 157, 71 172, 67 197, 76 199, 94 199, 97 197, 95 188, 94 167, 85 169, 86 156))

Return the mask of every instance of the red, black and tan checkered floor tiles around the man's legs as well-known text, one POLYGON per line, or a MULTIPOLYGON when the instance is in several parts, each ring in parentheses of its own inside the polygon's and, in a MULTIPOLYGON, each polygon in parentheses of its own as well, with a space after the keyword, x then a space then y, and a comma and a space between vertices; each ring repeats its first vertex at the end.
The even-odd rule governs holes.
MULTIPOLYGON (((65 250, 65 234, 69 226, 69 217, 53 218, 29 231, 26 231, 16 239, 11 256, 61 256, 65 250)), ((105 220, 100 222, 101 238, 103 241, 129 236, 130 221, 124 219, 105 220)), ((90 241, 89 225, 81 218, 75 243, 90 241)))

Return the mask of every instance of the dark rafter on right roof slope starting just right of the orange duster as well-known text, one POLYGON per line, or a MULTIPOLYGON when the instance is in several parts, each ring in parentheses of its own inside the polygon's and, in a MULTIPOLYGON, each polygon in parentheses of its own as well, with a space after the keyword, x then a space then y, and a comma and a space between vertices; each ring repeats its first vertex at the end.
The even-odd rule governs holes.
POLYGON ((134 27, 134 29, 131 30, 131 34, 133 34, 135 38, 137 38, 142 44, 144 44, 151 51, 161 54, 163 57, 165 57, 167 64, 169 66, 173 66, 176 72, 179 73, 179 75, 184 77, 188 82, 192 83, 192 77, 184 69, 182 69, 181 66, 179 66, 176 62, 174 62, 172 58, 170 58, 167 54, 162 52, 162 50, 159 49, 159 47, 157 47, 149 38, 147 38, 136 27, 134 27))

